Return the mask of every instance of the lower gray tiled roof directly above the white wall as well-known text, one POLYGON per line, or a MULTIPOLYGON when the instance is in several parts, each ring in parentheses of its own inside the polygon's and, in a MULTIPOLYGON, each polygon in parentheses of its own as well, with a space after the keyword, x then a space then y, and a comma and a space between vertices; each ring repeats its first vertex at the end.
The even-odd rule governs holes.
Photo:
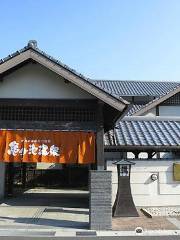
POLYGON ((180 147, 180 118, 125 117, 104 139, 105 145, 180 147))

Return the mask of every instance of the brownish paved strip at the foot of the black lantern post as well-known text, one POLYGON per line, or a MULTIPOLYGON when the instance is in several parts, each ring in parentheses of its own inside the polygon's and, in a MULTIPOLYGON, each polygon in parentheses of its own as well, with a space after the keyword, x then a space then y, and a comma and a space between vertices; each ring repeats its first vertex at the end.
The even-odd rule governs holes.
POLYGON ((137 227, 143 230, 176 230, 180 229, 180 218, 170 217, 146 217, 140 209, 138 209, 139 217, 122 217, 113 218, 113 230, 133 231, 137 227), (176 219, 176 221, 173 221, 176 219), (179 226, 175 223, 179 223, 179 226))

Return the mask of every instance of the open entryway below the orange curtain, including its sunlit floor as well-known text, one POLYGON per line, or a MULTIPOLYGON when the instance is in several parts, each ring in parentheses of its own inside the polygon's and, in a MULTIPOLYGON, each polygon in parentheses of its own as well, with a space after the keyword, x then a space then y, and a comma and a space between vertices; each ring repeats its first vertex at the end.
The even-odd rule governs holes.
POLYGON ((0 225, 88 229, 88 166, 40 169, 37 165, 6 164, 6 197, 0 204, 0 225))

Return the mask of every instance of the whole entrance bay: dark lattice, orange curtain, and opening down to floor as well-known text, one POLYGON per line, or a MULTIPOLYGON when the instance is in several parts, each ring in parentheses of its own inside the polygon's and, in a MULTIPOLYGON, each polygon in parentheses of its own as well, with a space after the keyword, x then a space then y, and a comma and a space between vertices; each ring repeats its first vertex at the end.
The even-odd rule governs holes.
POLYGON ((6 196, 0 208, 12 212, 3 216, 0 210, 0 217, 6 220, 11 216, 7 221, 18 224, 35 218, 36 226, 65 224, 88 229, 88 175, 96 165, 96 107, 96 101, 91 100, 0 103, 3 129, 10 129, 3 132, 10 136, 4 138, 8 148, 3 150, 5 161, 10 163, 4 163, 6 196), (54 164, 42 167, 39 162, 54 164), (22 208, 25 215, 20 216, 22 208))

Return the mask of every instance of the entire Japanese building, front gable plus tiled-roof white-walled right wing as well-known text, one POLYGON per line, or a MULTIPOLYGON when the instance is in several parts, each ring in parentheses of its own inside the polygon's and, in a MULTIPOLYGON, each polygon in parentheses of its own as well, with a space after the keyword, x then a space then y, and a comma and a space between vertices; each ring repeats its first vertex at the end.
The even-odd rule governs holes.
POLYGON ((0 197, 85 187, 90 228, 111 229, 130 159, 136 206, 178 205, 179 116, 180 83, 88 79, 29 41, 0 60, 0 197))

